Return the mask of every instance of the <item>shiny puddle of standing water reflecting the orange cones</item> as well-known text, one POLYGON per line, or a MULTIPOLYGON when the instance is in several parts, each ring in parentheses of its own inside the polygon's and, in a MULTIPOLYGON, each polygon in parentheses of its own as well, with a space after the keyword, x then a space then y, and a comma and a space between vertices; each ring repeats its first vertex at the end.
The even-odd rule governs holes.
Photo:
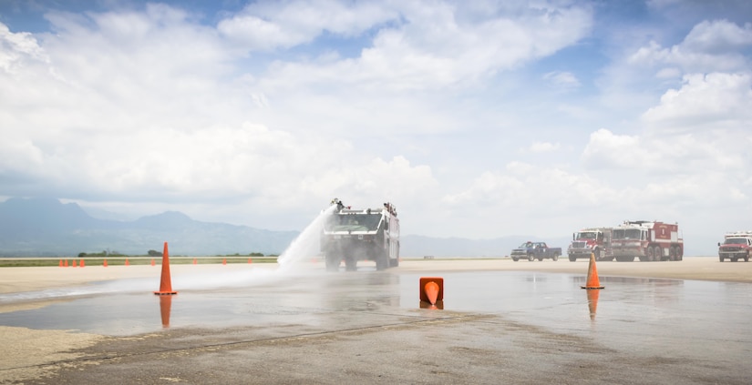
MULTIPOLYGON (((457 272, 444 278, 445 310, 495 314, 501 319, 554 331, 608 333, 657 325, 664 334, 720 333, 719 325, 745 327, 752 315, 752 285, 675 279, 601 277, 605 289, 581 289, 585 277, 519 271, 457 272)), ((420 277, 398 271, 326 273, 307 271, 276 279, 226 285, 172 288, 178 295, 155 296, 141 281, 110 281, 95 287, 0 295, 0 305, 57 299, 39 309, 0 313, 0 325, 30 329, 73 329, 126 336, 165 327, 313 325, 335 327, 345 319, 379 315, 423 317, 420 277), (124 289, 118 292, 114 288, 124 289), (190 289, 186 289, 190 288, 190 289), (333 320, 335 319, 335 320, 333 320)), ((436 314, 436 313, 434 313, 436 314)), ((391 318, 392 321, 394 318, 391 318)), ((626 333, 629 336, 629 333, 626 333)))

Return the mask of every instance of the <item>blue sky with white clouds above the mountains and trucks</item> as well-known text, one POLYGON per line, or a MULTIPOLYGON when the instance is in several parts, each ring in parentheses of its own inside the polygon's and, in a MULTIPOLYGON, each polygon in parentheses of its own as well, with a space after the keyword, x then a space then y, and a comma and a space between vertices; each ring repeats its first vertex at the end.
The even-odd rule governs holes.
POLYGON ((741 0, 2 0, 0 197, 285 230, 391 201, 403 234, 460 238, 656 219, 713 253, 752 229, 751 22, 741 0))

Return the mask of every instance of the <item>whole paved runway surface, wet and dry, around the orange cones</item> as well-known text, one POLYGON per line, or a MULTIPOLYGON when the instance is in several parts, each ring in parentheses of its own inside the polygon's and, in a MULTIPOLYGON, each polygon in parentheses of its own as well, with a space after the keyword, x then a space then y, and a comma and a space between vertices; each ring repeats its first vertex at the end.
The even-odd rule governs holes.
POLYGON ((581 289, 587 263, 569 261, 407 261, 337 273, 320 264, 179 267, 176 296, 152 294, 159 280, 142 268, 88 285, 5 290, 6 341, 23 346, 11 335, 57 330, 67 343, 47 353, 53 360, 0 360, 0 380, 750 383, 752 284, 614 273, 653 265, 744 275, 752 266, 685 262, 599 262, 602 290, 581 289), (419 279, 432 276, 444 279, 443 309, 419 301, 419 279))

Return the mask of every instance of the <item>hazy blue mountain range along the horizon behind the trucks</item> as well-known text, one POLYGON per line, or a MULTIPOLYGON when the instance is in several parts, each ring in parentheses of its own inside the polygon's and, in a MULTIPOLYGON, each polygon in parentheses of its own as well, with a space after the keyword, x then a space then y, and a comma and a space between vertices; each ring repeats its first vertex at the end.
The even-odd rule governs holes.
MULTIPOLYGON (((77 256, 78 253, 146 255, 170 243, 170 255, 279 255, 300 233, 193 220, 176 211, 131 221, 93 218, 76 203, 54 198, 10 198, 0 202, 0 256, 77 256)), ((501 257, 525 240, 566 248, 568 238, 512 236, 494 239, 403 236, 408 258, 501 257)))

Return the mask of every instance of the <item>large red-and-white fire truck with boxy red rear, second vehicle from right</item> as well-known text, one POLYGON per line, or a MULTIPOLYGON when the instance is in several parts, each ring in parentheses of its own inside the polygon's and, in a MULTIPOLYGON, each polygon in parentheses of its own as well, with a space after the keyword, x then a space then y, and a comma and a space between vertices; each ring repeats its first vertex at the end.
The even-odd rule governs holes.
POLYGON ((682 260, 684 239, 679 236, 679 225, 658 221, 624 221, 613 228, 611 239, 613 257, 620 262, 682 260))

